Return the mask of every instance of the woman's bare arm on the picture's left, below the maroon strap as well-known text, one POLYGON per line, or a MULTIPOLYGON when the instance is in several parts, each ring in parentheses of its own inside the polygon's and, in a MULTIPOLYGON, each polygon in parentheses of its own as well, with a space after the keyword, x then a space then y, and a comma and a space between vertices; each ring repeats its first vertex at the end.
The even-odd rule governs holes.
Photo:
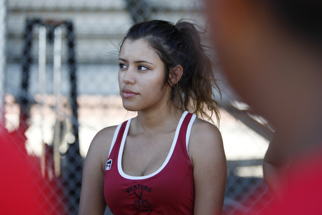
POLYGON ((112 130, 115 129, 110 127, 101 130, 91 143, 83 168, 78 214, 104 214, 106 202, 104 198, 105 173, 103 163, 108 158, 113 138, 112 130))

